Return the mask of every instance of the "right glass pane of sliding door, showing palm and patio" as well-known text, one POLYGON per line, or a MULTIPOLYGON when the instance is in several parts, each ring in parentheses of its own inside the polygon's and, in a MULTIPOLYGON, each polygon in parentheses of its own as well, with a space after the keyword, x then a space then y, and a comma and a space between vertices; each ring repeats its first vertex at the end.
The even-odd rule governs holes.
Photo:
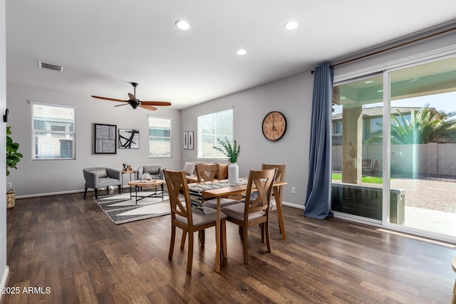
POLYGON ((456 236, 456 57, 388 77, 390 189, 403 196, 403 226, 456 236))

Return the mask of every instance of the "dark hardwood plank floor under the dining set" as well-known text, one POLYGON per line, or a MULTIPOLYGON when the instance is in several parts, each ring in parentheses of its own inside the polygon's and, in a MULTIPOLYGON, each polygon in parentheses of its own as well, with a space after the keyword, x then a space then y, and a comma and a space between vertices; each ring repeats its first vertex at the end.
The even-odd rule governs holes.
POLYGON ((207 230, 187 275, 180 233, 167 258, 169 216, 117 226, 82 193, 17 199, 7 211, 10 293, 2 302, 450 303, 455 246, 302 214, 284 207, 282 240, 273 212, 272 253, 252 227, 247 266, 237 226, 227 223, 220 273, 214 229, 207 230))

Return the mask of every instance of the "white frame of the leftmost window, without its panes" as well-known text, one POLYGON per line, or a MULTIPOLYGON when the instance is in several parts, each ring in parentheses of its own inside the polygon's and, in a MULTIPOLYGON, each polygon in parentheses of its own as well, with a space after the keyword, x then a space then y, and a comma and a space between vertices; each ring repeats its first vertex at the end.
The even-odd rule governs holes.
MULTIPOLYGON (((68 159, 76 159, 76 107, 74 105, 64 105, 64 104, 58 104, 58 103, 45 103, 45 102, 39 102, 39 101, 33 101, 30 100, 30 105, 31 105, 31 160, 36 161, 36 160, 68 160, 68 159), (35 129, 35 119, 34 119, 34 107, 36 105, 41 105, 45 107, 53 107, 53 108, 67 108, 67 109, 73 109, 73 131, 60 131, 60 130, 36 130, 35 129), (72 138, 72 157, 39 157, 40 154, 36 154, 36 134, 37 133, 51 133, 51 135, 71 135, 72 138)), ((51 120, 48 120, 48 117, 46 117, 45 122, 51 122, 51 120)), ((71 123, 71 122, 69 122, 71 123)))

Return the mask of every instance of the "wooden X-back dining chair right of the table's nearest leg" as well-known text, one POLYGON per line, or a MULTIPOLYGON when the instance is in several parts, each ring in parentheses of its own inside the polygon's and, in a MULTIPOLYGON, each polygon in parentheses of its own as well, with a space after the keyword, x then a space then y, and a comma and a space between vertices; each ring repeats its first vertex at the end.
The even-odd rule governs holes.
POLYGON ((276 168, 251 170, 244 203, 226 206, 221 209, 228 216, 227 221, 239 225, 242 230, 244 264, 249 263, 247 235, 250 226, 258 224, 261 226, 261 238, 262 236, 266 237, 267 251, 271 252, 271 243, 269 241, 269 200, 276 172, 276 168), (257 192, 258 195, 251 201, 250 197, 253 192, 257 192), (251 204, 248 203, 249 201, 251 201, 251 204))

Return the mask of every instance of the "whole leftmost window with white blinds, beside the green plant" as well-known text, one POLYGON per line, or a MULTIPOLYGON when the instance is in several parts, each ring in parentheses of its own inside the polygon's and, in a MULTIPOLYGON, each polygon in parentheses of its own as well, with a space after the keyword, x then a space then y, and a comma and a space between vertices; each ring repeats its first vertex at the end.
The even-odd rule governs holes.
POLYGON ((76 159, 75 108, 31 102, 32 160, 76 159))

